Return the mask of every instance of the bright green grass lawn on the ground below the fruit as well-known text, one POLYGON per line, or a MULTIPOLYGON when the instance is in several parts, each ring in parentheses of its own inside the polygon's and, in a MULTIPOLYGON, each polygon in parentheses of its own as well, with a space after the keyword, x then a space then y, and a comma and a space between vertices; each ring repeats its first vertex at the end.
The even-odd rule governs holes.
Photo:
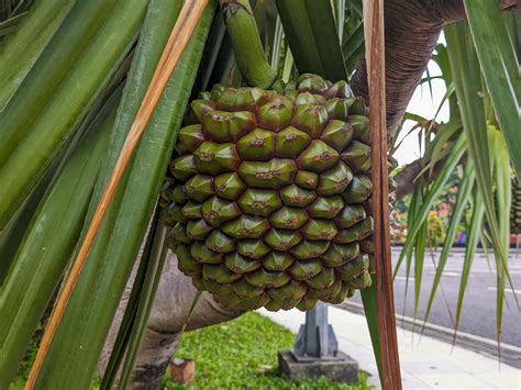
MULTIPOLYGON (((257 314, 247 313, 220 325, 182 335, 176 357, 196 361, 196 381, 186 387, 173 383, 167 372, 166 389, 293 389, 277 374, 277 352, 291 349, 295 335, 257 314)), ((334 383, 319 378, 299 389, 369 389, 365 376, 361 385, 334 383)))

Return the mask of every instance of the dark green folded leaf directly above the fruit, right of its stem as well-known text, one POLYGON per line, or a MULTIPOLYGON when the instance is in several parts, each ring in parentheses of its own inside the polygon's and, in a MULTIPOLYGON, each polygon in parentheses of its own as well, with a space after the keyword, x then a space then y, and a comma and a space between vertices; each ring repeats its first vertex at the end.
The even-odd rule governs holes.
POLYGON ((330 1, 276 0, 299 73, 347 80, 330 1))

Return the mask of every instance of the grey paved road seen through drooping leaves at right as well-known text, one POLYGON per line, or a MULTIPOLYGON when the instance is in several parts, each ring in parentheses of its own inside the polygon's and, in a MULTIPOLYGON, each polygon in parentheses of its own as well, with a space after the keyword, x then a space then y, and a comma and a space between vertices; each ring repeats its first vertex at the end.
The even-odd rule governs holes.
MULTIPOLYGON (((392 249, 392 258, 396 261, 400 254, 400 248, 392 249)), ((440 252, 435 254, 437 263, 440 252)), ((446 303, 443 300, 441 290, 434 300, 429 316, 429 322, 452 328, 453 322, 448 314, 447 305, 454 316, 456 313, 456 303, 462 278, 462 267, 464 259, 463 249, 453 249, 447 260, 445 271, 442 277, 443 292, 446 303)), ((490 259, 495 268, 494 259, 490 259)), ((509 268, 513 281, 514 290, 521 304, 521 253, 512 253, 509 258, 509 268)), ((413 269, 411 269, 411 274, 413 269)), ((425 257, 423 269, 423 280, 420 292, 419 317, 423 319, 429 293, 434 279, 434 266, 431 257, 425 257)), ((397 313, 403 313, 407 316, 414 316, 414 286, 412 279, 409 281, 408 296, 404 300, 406 288, 406 268, 401 267, 395 281, 395 301, 397 313), (403 304, 406 303, 406 304, 403 304)), ((503 309, 502 336, 503 343, 521 346, 521 313, 516 307, 513 292, 510 288, 505 293, 507 305, 503 309)), ((354 297, 359 302, 359 297, 354 297)), ((420 322, 421 324, 421 322, 420 322)), ((487 259, 483 252, 476 254, 473 268, 468 279, 467 291, 462 310, 459 330, 466 333, 481 337, 496 339, 496 272, 490 271, 487 259)))

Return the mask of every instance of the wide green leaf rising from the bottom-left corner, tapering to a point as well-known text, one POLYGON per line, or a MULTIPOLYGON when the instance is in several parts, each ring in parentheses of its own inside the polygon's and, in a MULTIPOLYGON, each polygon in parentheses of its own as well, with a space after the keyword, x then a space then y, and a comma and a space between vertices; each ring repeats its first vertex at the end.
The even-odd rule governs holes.
POLYGON ((0 294, 2 389, 16 372, 79 237, 120 96, 114 93, 65 163, 16 253, 0 294))

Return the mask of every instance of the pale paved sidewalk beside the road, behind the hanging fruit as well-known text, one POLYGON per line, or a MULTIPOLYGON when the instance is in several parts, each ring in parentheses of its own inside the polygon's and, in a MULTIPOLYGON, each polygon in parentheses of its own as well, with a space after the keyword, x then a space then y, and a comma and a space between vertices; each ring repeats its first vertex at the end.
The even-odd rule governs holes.
MULTIPOLYGON (((298 310, 260 314, 297 333, 306 314, 298 310)), ((339 348, 358 361, 359 368, 370 375, 369 383, 379 388, 378 372, 365 317, 330 307, 339 348)), ((499 364, 477 353, 398 330, 398 345, 403 389, 521 389, 521 370, 499 364), (414 338, 411 338, 411 337, 414 338)))

